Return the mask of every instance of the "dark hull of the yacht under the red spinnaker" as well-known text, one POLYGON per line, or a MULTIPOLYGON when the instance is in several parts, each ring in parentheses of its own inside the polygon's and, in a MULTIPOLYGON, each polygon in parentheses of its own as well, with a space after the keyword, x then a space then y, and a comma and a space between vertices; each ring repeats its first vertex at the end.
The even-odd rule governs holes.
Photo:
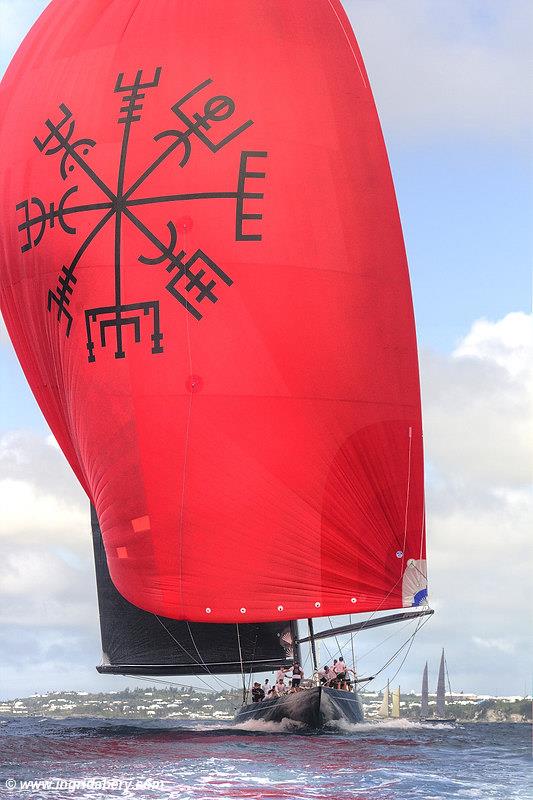
POLYGON ((292 692, 275 700, 251 703, 235 714, 237 724, 250 720, 290 720, 310 730, 320 730, 339 722, 363 722, 363 719, 363 707, 356 694, 323 686, 292 692))

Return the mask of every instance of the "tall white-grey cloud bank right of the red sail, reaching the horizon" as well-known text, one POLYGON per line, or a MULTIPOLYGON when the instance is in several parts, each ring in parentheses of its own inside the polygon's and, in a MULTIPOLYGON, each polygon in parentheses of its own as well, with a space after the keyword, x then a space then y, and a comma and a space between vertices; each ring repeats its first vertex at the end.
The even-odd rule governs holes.
POLYGON ((430 598, 440 606, 426 638, 446 646, 469 690, 520 692, 533 655, 531 331, 526 314, 480 320, 453 354, 422 359, 430 598))

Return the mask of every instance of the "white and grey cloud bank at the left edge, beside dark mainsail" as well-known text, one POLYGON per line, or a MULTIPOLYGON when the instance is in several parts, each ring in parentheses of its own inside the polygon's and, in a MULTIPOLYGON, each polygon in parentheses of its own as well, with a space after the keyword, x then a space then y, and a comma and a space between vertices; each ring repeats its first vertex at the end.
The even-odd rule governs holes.
POLYGON ((0 508, 2 629, 95 629, 89 502, 51 435, 0 437, 0 508))

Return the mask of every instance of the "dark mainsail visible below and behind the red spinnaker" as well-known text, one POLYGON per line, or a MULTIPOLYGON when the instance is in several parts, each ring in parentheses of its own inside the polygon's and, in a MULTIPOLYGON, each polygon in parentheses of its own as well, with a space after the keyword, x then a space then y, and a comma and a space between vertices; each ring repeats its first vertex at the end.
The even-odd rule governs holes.
POLYGON ((114 675, 208 675, 267 671, 299 659, 293 622, 187 623, 143 611, 115 588, 98 518, 91 507, 102 636, 98 672, 114 675))

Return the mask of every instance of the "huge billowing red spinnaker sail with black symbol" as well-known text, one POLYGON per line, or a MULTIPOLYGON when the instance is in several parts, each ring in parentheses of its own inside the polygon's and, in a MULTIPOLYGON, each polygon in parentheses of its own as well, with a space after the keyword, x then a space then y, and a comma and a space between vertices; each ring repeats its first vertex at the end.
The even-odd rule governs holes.
POLYGON ((2 311, 122 595, 201 622, 418 603, 409 277, 340 2, 53 0, 0 154, 2 311))

